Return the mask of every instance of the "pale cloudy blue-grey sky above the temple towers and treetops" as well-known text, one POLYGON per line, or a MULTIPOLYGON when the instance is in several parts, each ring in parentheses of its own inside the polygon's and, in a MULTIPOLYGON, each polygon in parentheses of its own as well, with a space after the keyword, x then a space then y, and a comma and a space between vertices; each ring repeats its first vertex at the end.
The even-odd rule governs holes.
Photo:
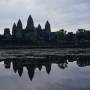
POLYGON ((49 20, 52 31, 90 30, 90 0, 0 0, 0 33, 12 29, 19 18, 25 28, 29 15, 35 27, 41 24, 44 28, 49 20))

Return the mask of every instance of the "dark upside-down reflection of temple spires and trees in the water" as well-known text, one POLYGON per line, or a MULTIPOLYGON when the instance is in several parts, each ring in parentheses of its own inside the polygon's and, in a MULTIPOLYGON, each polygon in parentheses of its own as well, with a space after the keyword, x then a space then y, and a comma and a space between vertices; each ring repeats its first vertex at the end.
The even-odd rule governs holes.
POLYGON ((90 66, 90 57, 59 57, 59 56, 52 56, 48 57, 47 59, 6 59, 1 60, 4 62, 4 67, 6 69, 10 69, 11 64, 13 66, 13 71, 16 73, 18 72, 18 75, 21 77, 23 74, 23 68, 25 67, 27 69, 27 74, 30 78, 30 80, 33 80, 35 70, 38 68, 38 70, 42 70, 42 67, 44 66, 46 68, 46 73, 50 74, 52 64, 57 64, 57 66, 60 69, 65 69, 68 67, 69 62, 76 61, 76 64, 79 67, 84 66, 90 66))

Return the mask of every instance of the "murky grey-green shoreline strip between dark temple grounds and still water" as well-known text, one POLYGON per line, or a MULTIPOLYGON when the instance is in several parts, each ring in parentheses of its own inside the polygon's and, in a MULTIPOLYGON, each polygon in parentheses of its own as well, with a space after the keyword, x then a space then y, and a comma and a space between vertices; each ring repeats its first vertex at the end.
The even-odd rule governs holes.
POLYGON ((43 59, 49 57, 90 57, 90 48, 0 50, 0 59, 43 59))

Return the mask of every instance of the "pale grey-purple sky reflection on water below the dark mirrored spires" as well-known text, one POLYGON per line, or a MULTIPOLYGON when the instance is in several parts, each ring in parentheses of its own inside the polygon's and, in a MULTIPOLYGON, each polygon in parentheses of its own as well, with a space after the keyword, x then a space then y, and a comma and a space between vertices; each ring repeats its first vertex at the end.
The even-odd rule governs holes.
POLYGON ((27 70, 20 78, 14 73, 12 66, 5 69, 0 63, 0 90, 90 90, 90 67, 78 67, 76 62, 68 63, 68 68, 60 69, 53 64, 50 74, 42 70, 35 70, 35 75, 30 81, 27 70))

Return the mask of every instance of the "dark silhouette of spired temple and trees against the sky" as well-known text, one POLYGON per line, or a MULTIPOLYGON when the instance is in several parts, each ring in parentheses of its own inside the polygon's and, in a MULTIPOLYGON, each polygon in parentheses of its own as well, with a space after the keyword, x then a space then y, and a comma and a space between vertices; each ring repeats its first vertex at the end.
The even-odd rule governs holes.
POLYGON ((17 24, 13 24, 12 33, 9 28, 4 29, 4 34, 0 35, 0 47, 89 47, 90 31, 78 29, 73 32, 66 32, 61 29, 51 32, 49 21, 45 23, 42 29, 39 24, 34 26, 34 21, 29 16, 26 28, 23 29, 21 20, 17 24))

